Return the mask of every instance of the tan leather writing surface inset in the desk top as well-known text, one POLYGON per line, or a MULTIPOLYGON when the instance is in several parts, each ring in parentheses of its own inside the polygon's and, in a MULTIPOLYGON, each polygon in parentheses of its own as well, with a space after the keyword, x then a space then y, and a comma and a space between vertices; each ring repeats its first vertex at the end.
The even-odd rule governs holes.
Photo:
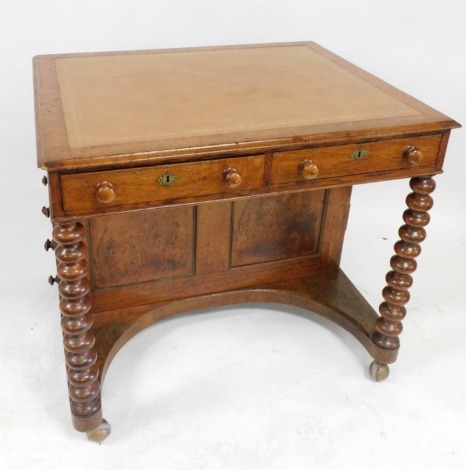
POLYGON ((420 114, 303 44, 55 64, 70 148, 177 139, 186 145, 199 136, 215 144, 230 134, 248 140, 261 130, 420 114))

